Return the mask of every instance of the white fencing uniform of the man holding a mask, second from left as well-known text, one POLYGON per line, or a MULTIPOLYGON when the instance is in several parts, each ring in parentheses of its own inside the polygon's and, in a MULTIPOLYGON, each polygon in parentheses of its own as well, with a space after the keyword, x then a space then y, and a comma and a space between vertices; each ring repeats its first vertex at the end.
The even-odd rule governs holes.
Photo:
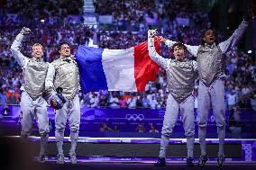
POLYGON ((59 155, 63 155, 64 130, 67 118, 69 119, 71 148, 69 154, 76 154, 78 132, 80 125, 80 103, 78 98, 79 72, 77 62, 73 58, 60 57, 50 63, 46 78, 46 88, 63 89, 63 96, 68 101, 56 111, 55 137, 59 155))

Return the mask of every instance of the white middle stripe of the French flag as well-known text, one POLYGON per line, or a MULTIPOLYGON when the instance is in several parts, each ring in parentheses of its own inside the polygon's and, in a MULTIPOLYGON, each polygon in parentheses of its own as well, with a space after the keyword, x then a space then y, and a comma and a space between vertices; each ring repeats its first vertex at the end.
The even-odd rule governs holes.
POLYGON ((133 53, 134 48, 103 50, 102 65, 109 91, 137 92, 133 53))

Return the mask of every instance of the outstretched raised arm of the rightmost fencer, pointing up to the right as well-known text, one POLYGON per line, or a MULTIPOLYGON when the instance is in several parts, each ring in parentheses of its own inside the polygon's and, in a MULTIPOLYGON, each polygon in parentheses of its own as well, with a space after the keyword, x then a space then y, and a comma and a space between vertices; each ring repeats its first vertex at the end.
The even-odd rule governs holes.
POLYGON ((239 25, 239 27, 233 32, 232 36, 223 42, 219 44, 220 49, 223 53, 228 52, 230 49, 233 49, 233 47, 238 43, 238 41, 242 38, 243 32, 248 27, 248 22, 245 22, 244 20, 239 25))

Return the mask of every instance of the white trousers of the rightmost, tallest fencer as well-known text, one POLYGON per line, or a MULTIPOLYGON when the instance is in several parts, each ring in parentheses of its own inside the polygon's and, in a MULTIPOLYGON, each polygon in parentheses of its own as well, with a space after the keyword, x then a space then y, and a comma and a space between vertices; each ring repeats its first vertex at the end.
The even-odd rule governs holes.
POLYGON ((224 155, 225 103, 224 80, 218 79, 209 87, 202 82, 198 86, 198 138, 201 155, 206 155, 206 126, 212 105, 219 138, 219 156, 224 155))

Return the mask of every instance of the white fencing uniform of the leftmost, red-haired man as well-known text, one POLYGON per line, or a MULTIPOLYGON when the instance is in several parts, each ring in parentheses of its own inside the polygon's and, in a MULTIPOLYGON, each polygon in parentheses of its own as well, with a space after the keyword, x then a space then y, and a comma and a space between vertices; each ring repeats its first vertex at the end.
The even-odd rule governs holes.
POLYGON ((19 46, 23 40, 23 34, 19 33, 15 38, 11 51, 18 64, 23 67, 23 81, 21 91, 22 132, 27 137, 32 130, 34 117, 38 121, 41 135, 41 154, 44 155, 49 137, 49 118, 47 103, 41 94, 44 91, 44 82, 49 63, 42 58, 26 58, 21 53, 19 46))

